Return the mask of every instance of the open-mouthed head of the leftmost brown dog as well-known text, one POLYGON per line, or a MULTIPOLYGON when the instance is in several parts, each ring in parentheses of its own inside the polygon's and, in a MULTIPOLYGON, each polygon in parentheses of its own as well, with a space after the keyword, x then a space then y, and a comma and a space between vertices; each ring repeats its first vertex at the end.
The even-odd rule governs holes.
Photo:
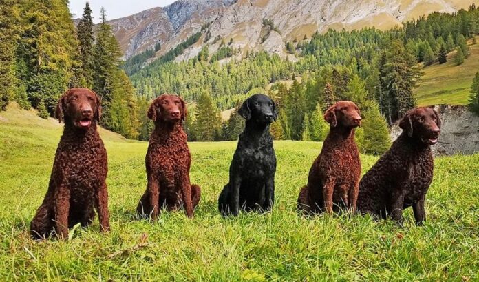
POLYGON ((56 105, 55 117, 60 122, 72 123, 76 128, 87 130, 93 121, 100 121, 100 98, 87 88, 67 90, 56 105))

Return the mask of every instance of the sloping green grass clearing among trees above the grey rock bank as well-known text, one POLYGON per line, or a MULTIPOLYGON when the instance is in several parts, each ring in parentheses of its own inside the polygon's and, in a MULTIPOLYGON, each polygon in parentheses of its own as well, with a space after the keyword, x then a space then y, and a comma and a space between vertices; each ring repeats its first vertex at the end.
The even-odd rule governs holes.
POLYGON ((447 63, 434 63, 423 69, 424 75, 414 90, 418 105, 467 105, 472 79, 479 71, 479 44, 469 46, 471 54, 456 66, 456 52, 449 54, 447 63))

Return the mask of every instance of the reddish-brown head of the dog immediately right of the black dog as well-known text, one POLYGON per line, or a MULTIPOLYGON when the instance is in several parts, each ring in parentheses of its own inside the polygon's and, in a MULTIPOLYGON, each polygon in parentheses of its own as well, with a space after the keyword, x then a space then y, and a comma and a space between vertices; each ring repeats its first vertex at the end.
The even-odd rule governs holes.
POLYGON ((361 126, 361 112, 355 103, 351 101, 339 101, 326 110, 324 120, 327 121, 332 128, 356 128, 361 126))

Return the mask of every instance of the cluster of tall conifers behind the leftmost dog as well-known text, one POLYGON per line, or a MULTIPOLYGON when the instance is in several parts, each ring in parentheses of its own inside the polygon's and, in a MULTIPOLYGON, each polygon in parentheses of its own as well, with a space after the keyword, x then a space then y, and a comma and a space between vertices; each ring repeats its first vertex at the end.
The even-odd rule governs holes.
POLYGON ((1 0, 0 11, 1 108, 17 101, 52 117, 67 88, 87 87, 102 99, 101 125, 138 138, 138 98, 104 9, 96 28, 89 3, 76 28, 65 0, 1 0))

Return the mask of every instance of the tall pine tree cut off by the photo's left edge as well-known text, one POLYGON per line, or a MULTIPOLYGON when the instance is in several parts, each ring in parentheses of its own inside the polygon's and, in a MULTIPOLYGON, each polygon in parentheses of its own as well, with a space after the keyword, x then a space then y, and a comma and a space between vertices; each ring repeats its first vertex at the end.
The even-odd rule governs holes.
POLYGON ((15 1, 0 1, 0 110, 13 96, 17 11, 15 1))

